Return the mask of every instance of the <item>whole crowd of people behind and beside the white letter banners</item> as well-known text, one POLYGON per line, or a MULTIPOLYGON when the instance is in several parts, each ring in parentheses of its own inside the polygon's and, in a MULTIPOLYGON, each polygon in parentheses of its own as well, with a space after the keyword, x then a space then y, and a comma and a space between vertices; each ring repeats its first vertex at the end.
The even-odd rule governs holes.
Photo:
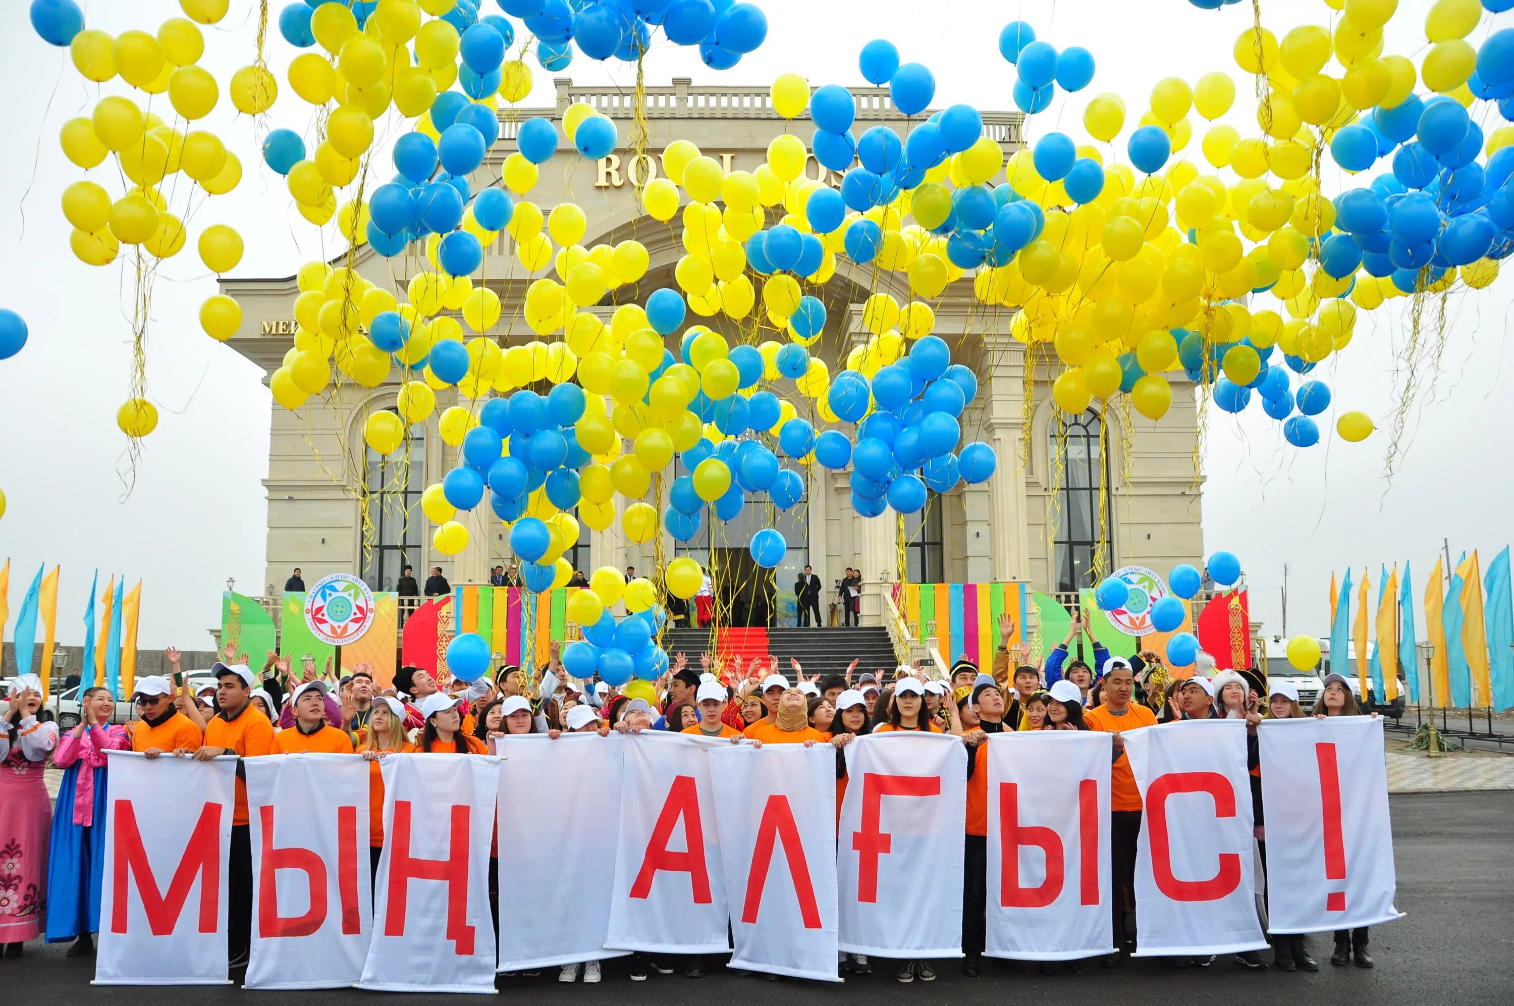
MULTIPOLYGON (((980 973, 986 938, 987 871, 987 738, 1010 730, 1104 730, 1113 735, 1111 776, 1111 935, 1116 953, 1102 959, 1119 967, 1136 948, 1136 842, 1142 829, 1142 797, 1123 751, 1123 735, 1182 720, 1243 718, 1249 729, 1248 768, 1257 847, 1266 864, 1266 826, 1255 729, 1263 718, 1360 715, 1349 683, 1325 679, 1313 711, 1305 712, 1287 682, 1272 688, 1237 671, 1213 673, 1213 662, 1181 680, 1167 680, 1161 659, 1143 651, 1131 659, 1108 656, 1092 635, 1093 664, 1072 656, 1070 645, 1087 623, 1075 623, 1067 639, 1031 659, 1028 644, 1011 645, 1016 626, 999 620, 999 645, 989 671, 966 658, 946 680, 916 668, 805 676, 798 661, 789 674, 777 658, 745 665, 733 659, 718 667, 701 655, 699 670, 677 655, 654 683, 656 701, 624 694, 603 682, 577 682, 559 664, 557 644, 542 668, 501 667, 492 679, 472 683, 438 682, 418 667, 404 667, 388 686, 372 668, 359 665, 338 676, 330 662, 316 668, 309 658, 298 673, 288 656, 268 653, 262 674, 245 655, 227 653, 213 667, 215 685, 191 694, 179 668, 179 651, 167 651, 171 674, 136 679, 136 718, 111 724, 114 695, 94 686, 82 692, 82 721, 59 732, 38 718, 41 680, 24 676, 12 683, 0 715, 0 954, 20 956, 26 942, 68 942, 71 956, 92 951, 100 929, 100 882, 104 854, 106 756, 132 750, 147 759, 221 754, 256 758, 280 753, 356 753, 369 762, 369 850, 377 873, 383 848, 383 779, 378 765, 392 753, 427 751, 489 754, 510 736, 563 732, 680 730, 734 744, 830 744, 836 748, 836 808, 846 792, 845 747, 868 733, 924 730, 961 738, 967 779, 966 854, 963 886, 961 971, 980 973), (1213 674, 1211 674, 1213 673, 1213 674), (1266 692, 1266 694, 1263 694, 1266 692), (48 761, 65 770, 56 808, 42 783, 48 761)), ((646 683, 642 683, 643 686, 646 683)), ((634 689, 633 689, 634 691, 634 689)), ((1258 886, 1261 879, 1258 879, 1258 886)), ((498 861, 491 864, 491 897, 498 897, 498 861)), ((251 844, 247 791, 236 782, 236 808, 227 864, 229 951, 232 968, 247 964, 251 939, 251 844)), ((1367 930, 1337 932, 1331 964, 1370 968, 1367 930)), ((863 954, 843 954, 852 974, 868 974, 863 954)), ((1172 958, 1173 967, 1208 967, 1214 958, 1172 958)), ((1255 951, 1238 964, 1260 970, 1255 951)), ((1317 970, 1304 936, 1278 936, 1272 964, 1317 970)), ((933 980, 928 961, 896 962, 899 982, 933 980)), ((686 974, 704 973, 704 961, 681 962, 686 974)), ((1017 968, 1010 962, 1008 967, 1017 968)), ((1052 971, 1054 965, 1040 965, 1052 971)), ((1078 962, 1061 965, 1079 970, 1078 962)), ((668 961, 631 958, 630 976, 671 973, 668 961)), ((600 980, 598 962, 565 965, 560 980, 600 980)))

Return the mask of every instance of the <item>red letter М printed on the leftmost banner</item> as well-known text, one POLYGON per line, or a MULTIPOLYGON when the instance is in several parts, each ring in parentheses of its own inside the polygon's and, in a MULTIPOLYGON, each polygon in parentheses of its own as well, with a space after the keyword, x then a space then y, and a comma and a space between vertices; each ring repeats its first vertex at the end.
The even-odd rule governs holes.
POLYGON ((142 898, 147 927, 154 936, 168 936, 179 923, 189 888, 200 874, 200 923, 201 933, 213 933, 218 901, 221 897, 221 811, 220 803, 206 803, 189 833, 185 854, 179 858, 168 894, 157 892, 153 867, 147 862, 142 847, 142 832, 136 827, 136 811, 121 800, 115 804, 115 885, 112 888, 111 932, 126 932, 127 877, 136 876, 136 891, 142 898))

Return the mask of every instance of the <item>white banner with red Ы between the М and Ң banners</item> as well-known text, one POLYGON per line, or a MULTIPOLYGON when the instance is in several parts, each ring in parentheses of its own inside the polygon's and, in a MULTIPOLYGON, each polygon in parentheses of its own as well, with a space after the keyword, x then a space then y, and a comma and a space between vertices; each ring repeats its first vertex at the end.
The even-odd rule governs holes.
POLYGON ((372 927, 368 762, 248 758, 253 948, 247 988, 348 988, 372 927))

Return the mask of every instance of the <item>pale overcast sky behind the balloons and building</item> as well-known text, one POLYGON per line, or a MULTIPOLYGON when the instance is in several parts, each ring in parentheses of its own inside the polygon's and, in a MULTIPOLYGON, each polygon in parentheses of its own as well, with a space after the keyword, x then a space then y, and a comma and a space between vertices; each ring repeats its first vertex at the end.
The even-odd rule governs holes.
MULTIPOLYGON (((68 248, 70 227, 59 197, 82 171, 58 147, 64 121, 88 114, 95 85, 80 79, 67 50, 44 44, 32 32, 21 0, 0 5, 0 94, 6 95, 6 156, 0 158, 0 306, 21 314, 30 341, 0 362, 0 489, 8 509, 0 518, 0 561, 9 556, 14 615, 38 564, 62 564, 59 636, 77 644, 89 577, 112 573, 144 582, 141 644, 209 645, 206 629, 220 621, 220 591, 235 577, 247 592, 260 592, 265 548, 269 395, 256 367, 212 342, 198 327, 198 303, 215 292, 194 250, 200 230, 229 223, 245 238, 236 276, 289 276, 300 262, 330 252, 316 230, 292 209, 283 179, 257 156, 253 123, 235 115, 226 85, 230 73, 253 59, 254 0, 233 0, 218 29, 207 29, 201 64, 221 82, 221 108, 206 121, 244 165, 241 186, 201 205, 189 221, 189 242, 170 259, 153 289, 147 347, 148 397, 157 405, 157 432, 132 467, 115 411, 127 398, 130 373, 129 273, 117 265, 91 268, 68 248)), ((129 27, 156 30, 179 17, 174 0, 83 5, 86 23, 112 33, 129 27)), ((274 12, 282 6, 269 5, 274 12)), ((495 9, 492 0, 481 5, 495 9)), ((996 47, 1011 18, 1036 26, 1058 48, 1083 45, 1098 61, 1093 85, 1058 95, 1034 117, 1034 141, 1066 129, 1079 141, 1083 105, 1102 91, 1125 97, 1128 129, 1146 106, 1158 77, 1190 82, 1211 70, 1237 77, 1241 98, 1231 118, 1245 124, 1251 82, 1231 59, 1235 36, 1251 21, 1251 6, 1198 11, 1187 0, 871 0, 868 5, 763 0, 768 42, 734 70, 716 74, 690 50, 666 42, 645 61, 646 82, 674 76, 696 83, 766 85, 786 71, 812 83, 858 85, 857 52, 872 38, 895 41, 905 61, 936 71, 936 105, 967 102, 983 109, 1010 109, 1014 70, 996 47), (864 12, 864 14, 863 14, 864 12), (1246 106, 1246 108, 1241 108, 1246 106)), ((1387 52, 1420 58, 1429 0, 1402 0, 1388 27, 1387 52)), ((1264 24, 1281 36, 1305 21, 1328 23, 1322 0, 1267 0, 1264 24)), ((1500 15, 1499 26, 1514 15, 1500 15)), ((1472 36, 1479 41, 1490 20, 1472 36)), ((285 67, 292 50, 269 27, 268 62, 280 80, 273 126, 304 132, 309 109, 288 88, 285 67)), ((590 64, 583 58, 565 71, 578 83, 613 80, 630 86, 634 70, 590 64)), ((528 105, 551 103, 553 74, 536 68, 528 105)), ((115 80, 103 92, 121 92, 115 80)), ((162 103, 162 102, 159 102, 162 103)), ((1198 126, 1199 123, 1196 123, 1198 126)), ((1196 130, 1199 133, 1201 130, 1196 130)), ((1123 136, 1120 141, 1123 142, 1123 136)), ((1185 152, 1199 158, 1198 142, 1185 152)), ((91 173, 114 195, 120 180, 106 165, 91 173)), ((1326 189, 1338 191, 1338 173, 1326 173, 1326 189)), ((1446 312, 1444 351, 1438 371, 1426 367, 1408 412, 1403 455, 1385 476, 1387 435, 1346 444, 1332 435, 1310 450, 1287 447, 1281 424, 1255 406, 1241 418, 1211 411, 1205 442, 1204 538, 1208 550, 1241 558, 1254 617, 1269 635, 1281 632, 1284 564, 1290 571, 1288 630, 1325 633, 1329 574, 1347 565, 1410 559, 1416 595, 1449 539, 1452 553, 1479 548, 1484 567, 1509 541, 1508 497, 1511 405, 1505 370, 1505 335, 1514 280, 1499 279, 1476 295, 1456 295, 1446 312)), ((1405 383, 1400 359, 1408 338, 1405 300, 1364 315, 1349 348, 1320 374, 1341 409, 1361 409, 1388 427, 1405 383)), ((1434 330, 1426 321, 1429 335, 1434 330)), ((1335 409, 1320 418, 1332 417, 1335 409)), ((1325 426, 1322 423, 1322 426, 1325 426)), ((1166 573, 1166 570, 1158 570, 1166 573)), ((1423 626, 1423 621, 1420 621, 1423 626)))

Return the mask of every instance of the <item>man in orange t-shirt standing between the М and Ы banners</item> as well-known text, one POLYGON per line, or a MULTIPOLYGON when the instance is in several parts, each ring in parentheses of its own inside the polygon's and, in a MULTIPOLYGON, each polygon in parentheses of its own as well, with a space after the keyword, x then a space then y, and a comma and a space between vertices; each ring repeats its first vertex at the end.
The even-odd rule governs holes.
MULTIPOLYGON (((227 667, 220 661, 215 674, 215 705, 220 709, 204 726, 204 745, 194 753, 201 762, 223 754, 257 758, 274 748, 274 724, 253 708, 256 679, 245 664, 227 667)), ((226 859, 226 951, 229 968, 247 967, 253 945, 253 838, 247 826, 247 783, 236 767, 236 809, 232 815, 232 848, 226 859)))

